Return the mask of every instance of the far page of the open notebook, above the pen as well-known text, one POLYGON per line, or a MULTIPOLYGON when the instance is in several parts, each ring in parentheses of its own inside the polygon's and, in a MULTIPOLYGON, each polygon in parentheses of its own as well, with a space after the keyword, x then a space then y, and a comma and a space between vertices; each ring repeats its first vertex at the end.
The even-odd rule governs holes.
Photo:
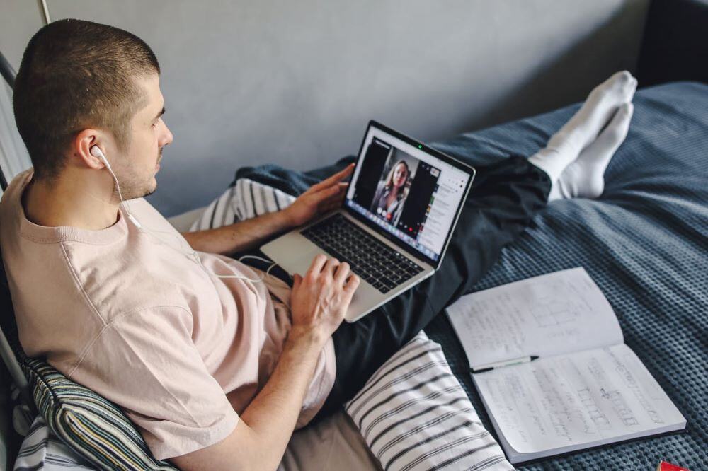
POLYGON ((583 268, 462 296, 447 316, 472 368, 624 342, 612 306, 583 268))

